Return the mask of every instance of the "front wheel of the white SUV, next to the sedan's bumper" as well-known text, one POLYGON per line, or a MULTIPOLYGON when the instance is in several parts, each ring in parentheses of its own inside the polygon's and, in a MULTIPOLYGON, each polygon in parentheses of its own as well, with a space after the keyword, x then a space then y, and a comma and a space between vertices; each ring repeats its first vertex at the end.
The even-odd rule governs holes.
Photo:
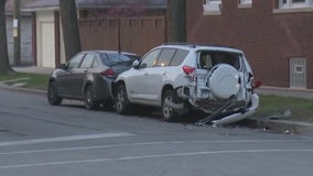
POLYGON ((115 97, 115 108, 116 112, 125 114, 129 108, 129 100, 127 98, 127 92, 125 85, 119 85, 115 97))

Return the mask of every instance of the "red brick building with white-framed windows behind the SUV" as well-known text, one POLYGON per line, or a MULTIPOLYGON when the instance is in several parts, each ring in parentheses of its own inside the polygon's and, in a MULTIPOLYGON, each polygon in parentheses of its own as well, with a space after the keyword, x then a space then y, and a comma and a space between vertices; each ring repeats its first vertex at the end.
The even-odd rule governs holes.
POLYGON ((265 86, 313 89, 313 0, 193 0, 187 41, 246 52, 265 86))

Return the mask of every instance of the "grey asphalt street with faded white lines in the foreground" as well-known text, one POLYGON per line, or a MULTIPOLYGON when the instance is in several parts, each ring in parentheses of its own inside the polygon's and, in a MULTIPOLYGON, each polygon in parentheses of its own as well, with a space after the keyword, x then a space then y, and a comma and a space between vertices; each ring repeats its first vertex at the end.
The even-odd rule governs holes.
MULTIPOLYGON (((41 95, 0 90, 1 176, 309 176, 313 138, 262 129, 164 123, 48 106, 41 95)), ((193 117, 190 117, 193 118, 193 117)))

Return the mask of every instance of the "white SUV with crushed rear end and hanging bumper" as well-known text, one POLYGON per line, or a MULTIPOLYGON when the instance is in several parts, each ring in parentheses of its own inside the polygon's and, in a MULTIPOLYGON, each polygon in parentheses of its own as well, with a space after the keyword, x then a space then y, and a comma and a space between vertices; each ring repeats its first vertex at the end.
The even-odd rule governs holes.
POLYGON ((164 44, 151 50, 112 85, 115 108, 131 103, 160 107, 165 121, 199 109, 199 124, 219 125, 249 117, 259 106, 260 81, 242 51, 193 44, 164 44))

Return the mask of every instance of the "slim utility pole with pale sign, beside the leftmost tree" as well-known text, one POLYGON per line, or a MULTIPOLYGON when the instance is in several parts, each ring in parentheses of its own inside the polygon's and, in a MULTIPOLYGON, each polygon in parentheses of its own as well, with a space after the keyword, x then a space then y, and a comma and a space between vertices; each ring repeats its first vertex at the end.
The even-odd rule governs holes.
POLYGON ((21 64, 21 0, 14 0, 13 12, 14 65, 21 64))

